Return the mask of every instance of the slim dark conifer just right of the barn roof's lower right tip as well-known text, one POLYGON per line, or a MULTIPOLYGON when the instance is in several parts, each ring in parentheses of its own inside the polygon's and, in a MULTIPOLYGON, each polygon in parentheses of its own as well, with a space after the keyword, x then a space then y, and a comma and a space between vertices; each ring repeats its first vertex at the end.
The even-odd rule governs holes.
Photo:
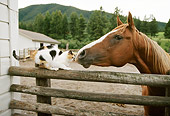
POLYGON ((66 39, 67 35, 69 34, 69 25, 68 25, 68 20, 67 20, 66 14, 63 15, 62 34, 63 34, 64 39, 66 39))

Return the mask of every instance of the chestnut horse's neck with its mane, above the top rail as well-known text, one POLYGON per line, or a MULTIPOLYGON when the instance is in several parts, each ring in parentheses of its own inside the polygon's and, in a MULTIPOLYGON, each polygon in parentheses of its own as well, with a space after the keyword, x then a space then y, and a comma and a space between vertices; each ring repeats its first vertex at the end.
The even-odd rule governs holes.
POLYGON ((142 33, 135 34, 135 63, 141 73, 165 74, 170 69, 169 55, 142 33))

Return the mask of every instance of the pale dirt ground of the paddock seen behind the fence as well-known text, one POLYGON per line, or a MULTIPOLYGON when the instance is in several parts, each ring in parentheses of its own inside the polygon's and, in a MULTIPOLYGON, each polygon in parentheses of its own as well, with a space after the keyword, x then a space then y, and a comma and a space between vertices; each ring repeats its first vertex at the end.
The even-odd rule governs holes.
MULTIPOLYGON (((33 61, 20 62, 21 66, 34 67, 33 61)), ((91 66, 88 69, 83 68, 77 63, 71 63, 70 67, 74 70, 99 70, 99 71, 114 71, 114 72, 130 72, 139 73, 135 66, 127 64, 121 68, 116 67, 97 67, 91 66)), ((126 85, 126 84, 111 84, 111 83, 99 83, 99 82, 78 82, 78 81, 66 81, 66 80, 51 80, 52 88, 68 89, 68 90, 80 90, 87 92, 102 92, 102 93, 115 93, 115 94, 131 94, 141 95, 141 86, 126 85)), ((35 85, 35 79, 33 78, 21 78, 21 84, 24 85, 35 85)), ((33 95, 22 94, 23 101, 36 102, 36 97, 33 95)), ((52 104, 57 106, 68 106, 76 109, 88 109, 95 111, 107 111, 115 113, 123 113, 127 115, 142 115, 144 110, 142 106, 136 105, 119 105, 114 103, 99 103, 99 102, 88 102, 81 100, 70 100, 64 98, 52 98, 52 104)), ((36 115, 33 112, 23 113, 29 115, 36 115)))

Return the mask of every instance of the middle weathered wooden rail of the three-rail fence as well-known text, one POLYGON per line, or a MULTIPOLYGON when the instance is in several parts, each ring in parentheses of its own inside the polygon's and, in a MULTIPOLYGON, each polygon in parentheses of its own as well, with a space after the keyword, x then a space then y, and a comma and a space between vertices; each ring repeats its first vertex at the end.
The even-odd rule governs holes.
POLYGON ((150 105, 150 106, 170 106, 169 97, 140 96, 111 93, 92 93, 75 90, 54 89, 49 87, 26 86, 13 84, 10 88, 13 92, 28 93, 33 95, 51 96, 59 98, 69 98, 85 101, 150 105))

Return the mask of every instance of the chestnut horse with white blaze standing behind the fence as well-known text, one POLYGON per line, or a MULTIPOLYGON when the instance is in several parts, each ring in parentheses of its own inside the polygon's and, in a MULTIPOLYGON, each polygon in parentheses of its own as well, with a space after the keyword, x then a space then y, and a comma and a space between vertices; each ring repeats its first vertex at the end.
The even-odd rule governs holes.
MULTIPOLYGON (((117 17, 117 27, 78 51, 76 61, 90 65, 121 67, 133 64, 140 73, 166 74, 170 56, 153 40, 139 32, 129 12, 127 24, 117 17)), ((142 95, 165 96, 165 89, 142 86, 142 95)), ((164 107, 144 106, 145 116, 163 116, 164 107)))

